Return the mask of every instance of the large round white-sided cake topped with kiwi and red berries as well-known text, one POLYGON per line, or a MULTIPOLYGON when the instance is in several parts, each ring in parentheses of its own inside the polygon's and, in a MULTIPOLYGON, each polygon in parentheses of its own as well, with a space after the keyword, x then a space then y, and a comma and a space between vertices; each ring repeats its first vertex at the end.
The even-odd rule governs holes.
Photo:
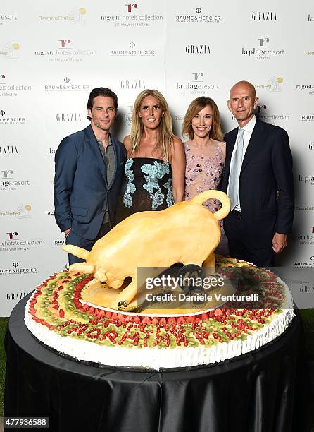
MULTIPOLYGON (((239 302, 234 308, 229 302, 179 317, 113 313, 82 301, 91 275, 64 271, 37 287, 27 302, 25 323, 46 346, 78 361, 155 370, 232 359, 263 347, 287 329, 293 301, 279 277, 232 258, 218 258, 216 268, 246 268, 256 280, 260 303, 252 308, 239 302)), ((241 286, 236 294, 243 294, 241 286)))

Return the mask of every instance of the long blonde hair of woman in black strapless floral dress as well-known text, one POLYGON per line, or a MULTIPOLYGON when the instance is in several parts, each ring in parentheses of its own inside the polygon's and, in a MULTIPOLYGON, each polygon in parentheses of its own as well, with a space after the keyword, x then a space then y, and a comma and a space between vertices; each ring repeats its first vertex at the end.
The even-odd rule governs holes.
POLYGON ((157 142, 155 147, 153 148, 153 152, 155 152, 156 150, 161 150, 161 159, 168 162, 170 145, 172 145, 172 138, 174 136, 172 133, 172 118, 170 116, 168 103, 165 100, 165 97, 163 97, 161 92, 158 92, 158 90, 150 90, 149 88, 140 92, 134 102, 130 134, 130 157, 132 157, 134 153, 139 151, 139 143, 141 141, 144 130, 142 120, 139 117, 139 109, 141 108, 141 104, 144 98, 147 96, 156 97, 156 99, 158 99, 159 103, 161 104, 161 109, 163 110, 163 116, 161 116, 161 123, 158 125, 157 142))

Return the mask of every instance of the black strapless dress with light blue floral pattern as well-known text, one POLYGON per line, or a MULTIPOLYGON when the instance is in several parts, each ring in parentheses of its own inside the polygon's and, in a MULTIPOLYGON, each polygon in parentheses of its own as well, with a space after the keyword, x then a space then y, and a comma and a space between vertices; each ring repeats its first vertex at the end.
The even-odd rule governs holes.
POLYGON ((146 210, 164 210, 173 202, 172 171, 168 162, 151 157, 134 157, 125 163, 127 188, 118 219, 146 210))

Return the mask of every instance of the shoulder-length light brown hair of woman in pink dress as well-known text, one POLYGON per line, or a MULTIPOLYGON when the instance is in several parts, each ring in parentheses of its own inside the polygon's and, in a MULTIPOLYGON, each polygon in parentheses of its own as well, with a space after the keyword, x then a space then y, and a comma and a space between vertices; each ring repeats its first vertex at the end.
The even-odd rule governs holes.
POLYGON ((223 133, 221 130, 220 124, 220 114, 218 106, 215 101, 211 99, 211 97, 196 97, 196 99, 192 100, 189 104, 189 108, 187 109, 187 113, 184 116, 183 125, 182 125, 182 136, 188 136, 190 140, 194 137, 194 132, 192 128, 192 119, 205 107, 211 107, 213 109, 213 122, 211 125, 211 131, 209 133, 210 138, 213 140, 222 141, 223 133))

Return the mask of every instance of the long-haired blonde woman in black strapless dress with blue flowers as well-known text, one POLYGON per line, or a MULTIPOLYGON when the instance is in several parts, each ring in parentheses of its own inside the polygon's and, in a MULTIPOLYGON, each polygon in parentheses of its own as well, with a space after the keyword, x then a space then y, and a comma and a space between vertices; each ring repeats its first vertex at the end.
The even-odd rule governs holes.
POLYGON ((158 90, 144 90, 134 102, 127 150, 127 188, 118 219, 134 212, 163 210, 184 199, 185 155, 172 133, 168 104, 158 90))

